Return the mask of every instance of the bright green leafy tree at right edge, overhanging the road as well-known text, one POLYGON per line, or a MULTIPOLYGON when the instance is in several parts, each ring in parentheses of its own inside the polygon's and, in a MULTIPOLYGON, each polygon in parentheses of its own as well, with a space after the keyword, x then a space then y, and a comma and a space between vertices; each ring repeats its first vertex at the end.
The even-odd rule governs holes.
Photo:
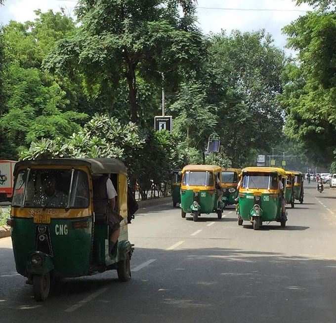
POLYGON ((284 28, 298 63, 283 73, 286 133, 330 162, 336 148, 336 14, 309 12, 284 28))

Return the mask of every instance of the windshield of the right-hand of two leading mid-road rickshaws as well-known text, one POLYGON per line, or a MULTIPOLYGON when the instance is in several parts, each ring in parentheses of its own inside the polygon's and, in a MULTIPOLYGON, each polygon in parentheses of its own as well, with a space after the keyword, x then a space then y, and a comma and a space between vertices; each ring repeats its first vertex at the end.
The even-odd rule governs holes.
POLYGON ((276 190, 278 188, 277 175, 262 172, 244 174, 242 187, 250 189, 276 190))

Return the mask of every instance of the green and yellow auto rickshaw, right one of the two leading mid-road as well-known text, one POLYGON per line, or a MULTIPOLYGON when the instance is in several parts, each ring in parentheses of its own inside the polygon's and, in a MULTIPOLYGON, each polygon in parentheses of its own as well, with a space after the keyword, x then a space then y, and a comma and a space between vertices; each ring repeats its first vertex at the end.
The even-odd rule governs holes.
POLYGON ((247 167, 242 170, 242 177, 237 209, 238 225, 243 225, 246 220, 253 224, 254 230, 258 230, 262 222, 277 221, 281 227, 285 227, 285 171, 277 167, 247 167))

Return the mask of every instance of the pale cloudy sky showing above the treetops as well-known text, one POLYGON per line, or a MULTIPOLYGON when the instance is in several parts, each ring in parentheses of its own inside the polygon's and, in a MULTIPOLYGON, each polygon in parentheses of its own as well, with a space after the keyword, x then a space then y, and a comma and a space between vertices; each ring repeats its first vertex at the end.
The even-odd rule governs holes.
MULTIPOLYGON (((67 13, 73 14, 76 3, 77 0, 5 0, 5 5, 0 6, 0 24, 4 25, 11 19, 20 22, 33 20, 36 9, 57 11, 63 7, 67 13)), ((295 6, 293 0, 198 0, 197 17, 205 34, 222 29, 229 33, 233 29, 255 31, 263 28, 273 36, 278 47, 285 49, 286 36, 282 35, 281 29, 309 9, 312 8, 306 4, 295 6), (275 11, 268 11, 270 9, 275 11)), ((294 54, 289 49, 285 51, 294 54)))

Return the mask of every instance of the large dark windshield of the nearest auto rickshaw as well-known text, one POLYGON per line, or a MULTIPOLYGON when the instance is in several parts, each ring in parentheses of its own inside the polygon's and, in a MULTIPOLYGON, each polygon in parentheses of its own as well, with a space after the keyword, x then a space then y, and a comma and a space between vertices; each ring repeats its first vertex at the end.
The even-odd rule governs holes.
POLYGON ((15 181, 12 206, 86 208, 87 175, 76 169, 25 169, 15 181))

